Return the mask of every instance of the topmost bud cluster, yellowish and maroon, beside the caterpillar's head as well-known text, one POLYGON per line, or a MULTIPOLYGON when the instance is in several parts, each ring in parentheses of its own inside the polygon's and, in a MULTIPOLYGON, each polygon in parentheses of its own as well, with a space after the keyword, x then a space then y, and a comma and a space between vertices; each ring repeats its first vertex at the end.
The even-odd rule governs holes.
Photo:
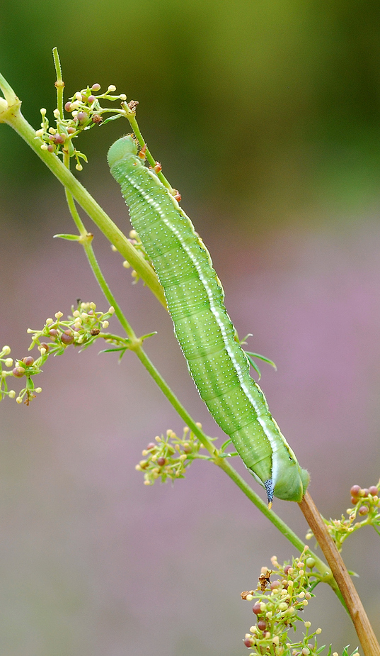
POLYGON ((70 157, 75 157, 78 171, 83 169, 79 160, 82 159, 87 162, 87 157, 83 152, 79 152, 74 148, 72 140, 83 130, 89 130, 93 126, 101 125, 101 123, 108 123, 108 121, 113 121, 115 118, 126 114, 125 109, 112 109, 100 105, 100 100, 103 99, 108 101, 121 100, 122 103, 125 103, 127 99, 125 94, 112 95, 116 91, 113 84, 110 84, 103 94, 98 94, 98 91, 100 91, 100 84, 93 84, 92 87, 76 91, 64 106, 65 111, 71 114, 69 118, 64 118, 59 109, 54 109, 54 128, 49 126, 46 109, 42 108, 40 110, 42 123, 41 128, 36 130, 35 135, 36 138, 42 141, 41 149, 56 154, 63 151, 68 152, 70 157), (103 114, 105 113, 113 113, 113 116, 104 120, 103 114))

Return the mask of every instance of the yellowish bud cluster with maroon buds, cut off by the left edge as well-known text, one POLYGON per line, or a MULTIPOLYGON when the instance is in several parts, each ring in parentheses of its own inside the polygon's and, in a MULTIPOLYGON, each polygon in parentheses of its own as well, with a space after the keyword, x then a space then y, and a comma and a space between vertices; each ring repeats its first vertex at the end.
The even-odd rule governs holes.
POLYGON ((62 355, 70 345, 81 346, 81 350, 83 350, 99 337, 113 340, 113 335, 100 332, 102 328, 108 328, 108 319, 115 312, 113 307, 103 313, 96 312, 95 303, 79 303, 78 308, 76 310, 71 308, 71 311, 72 315, 67 321, 62 321, 62 312, 56 312, 54 319, 47 318, 42 330, 28 328, 27 332, 33 335, 28 350, 32 350, 36 346, 40 351, 40 357, 36 360, 28 355, 13 362, 11 357, 4 357, 9 355, 11 349, 8 346, 3 347, 0 351, 0 400, 4 396, 9 396, 11 399, 16 396, 13 389, 8 391, 6 380, 8 377, 24 378, 25 387, 19 392, 16 401, 18 404, 24 401, 26 405, 29 405, 30 401, 35 398, 35 393, 42 391, 41 387, 35 387, 33 377, 42 372, 42 366, 49 355, 62 355), (49 340, 49 343, 45 340, 49 340), (8 370, 3 369, 3 365, 8 367, 8 370))

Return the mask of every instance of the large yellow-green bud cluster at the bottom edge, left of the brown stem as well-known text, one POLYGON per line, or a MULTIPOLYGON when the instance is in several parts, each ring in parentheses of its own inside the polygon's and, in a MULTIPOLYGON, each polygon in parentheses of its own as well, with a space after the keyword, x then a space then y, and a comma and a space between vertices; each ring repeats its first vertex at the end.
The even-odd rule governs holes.
MULTIPOLYGON (((262 567, 257 589, 241 593, 242 599, 255 602, 253 613, 257 621, 243 640, 251 650, 250 656, 317 656, 325 648, 317 643, 316 636, 321 629, 312 631, 311 623, 299 615, 314 596, 311 590, 316 585, 311 580, 316 577, 311 571, 315 561, 308 557, 308 549, 306 546, 299 558, 292 560, 292 565, 280 565, 273 556, 273 569, 262 567), (303 638, 294 642, 288 633, 290 629, 296 630, 297 623, 303 625, 303 638)), ((330 652, 331 647, 328 656, 330 652)), ((358 656, 357 650, 352 656, 358 656)))

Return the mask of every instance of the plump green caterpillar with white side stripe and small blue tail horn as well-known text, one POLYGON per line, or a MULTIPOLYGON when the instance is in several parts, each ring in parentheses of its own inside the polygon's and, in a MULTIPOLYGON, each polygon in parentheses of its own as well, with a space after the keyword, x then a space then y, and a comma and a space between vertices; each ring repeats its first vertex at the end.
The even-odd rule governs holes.
POLYGON ((132 135, 111 146, 108 163, 165 291, 175 335, 201 398, 265 487, 269 506, 273 496, 301 501, 309 474, 299 466, 249 374, 223 289, 190 218, 137 156, 132 135))

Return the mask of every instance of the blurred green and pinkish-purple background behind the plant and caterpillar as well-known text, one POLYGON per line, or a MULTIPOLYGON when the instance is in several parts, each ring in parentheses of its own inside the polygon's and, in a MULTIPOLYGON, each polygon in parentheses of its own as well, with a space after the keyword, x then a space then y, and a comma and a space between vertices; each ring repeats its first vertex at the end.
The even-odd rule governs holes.
MULTIPOLYGON (((42 106, 52 121, 54 46, 67 97, 99 82, 139 101, 239 333, 277 363, 263 388, 311 494, 340 516, 351 485, 375 484, 380 469, 379 3, 8 2, 0 70, 36 128, 42 106)), ((78 175, 124 229, 105 154, 127 131, 116 121, 86 133, 78 175)), ((0 211, 0 343, 23 357, 26 328, 77 297, 106 304, 79 247, 52 240, 72 231, 59 183, 4 125, 0 211)), ((154 362, 219 435, 168 317, 97 232, 94 245, 135 330, 159 331, 154 362)), ((132 355, 117 367, 96 350, 67 352, 41 378, 30 408, 0 406, 1 652, 244 654, 253 616, 240 592, 292 547, 212 467, 194 465, 175 491, 142 485, 142 448, 182 424, 132 355)), ((306 533, 295 504, 275 510, 306 533)), ((380 633, 378 553, 369 530, 345 547, 380 633)), ((329 590, 307 613, 321 644, 357 646, 329 590)))

